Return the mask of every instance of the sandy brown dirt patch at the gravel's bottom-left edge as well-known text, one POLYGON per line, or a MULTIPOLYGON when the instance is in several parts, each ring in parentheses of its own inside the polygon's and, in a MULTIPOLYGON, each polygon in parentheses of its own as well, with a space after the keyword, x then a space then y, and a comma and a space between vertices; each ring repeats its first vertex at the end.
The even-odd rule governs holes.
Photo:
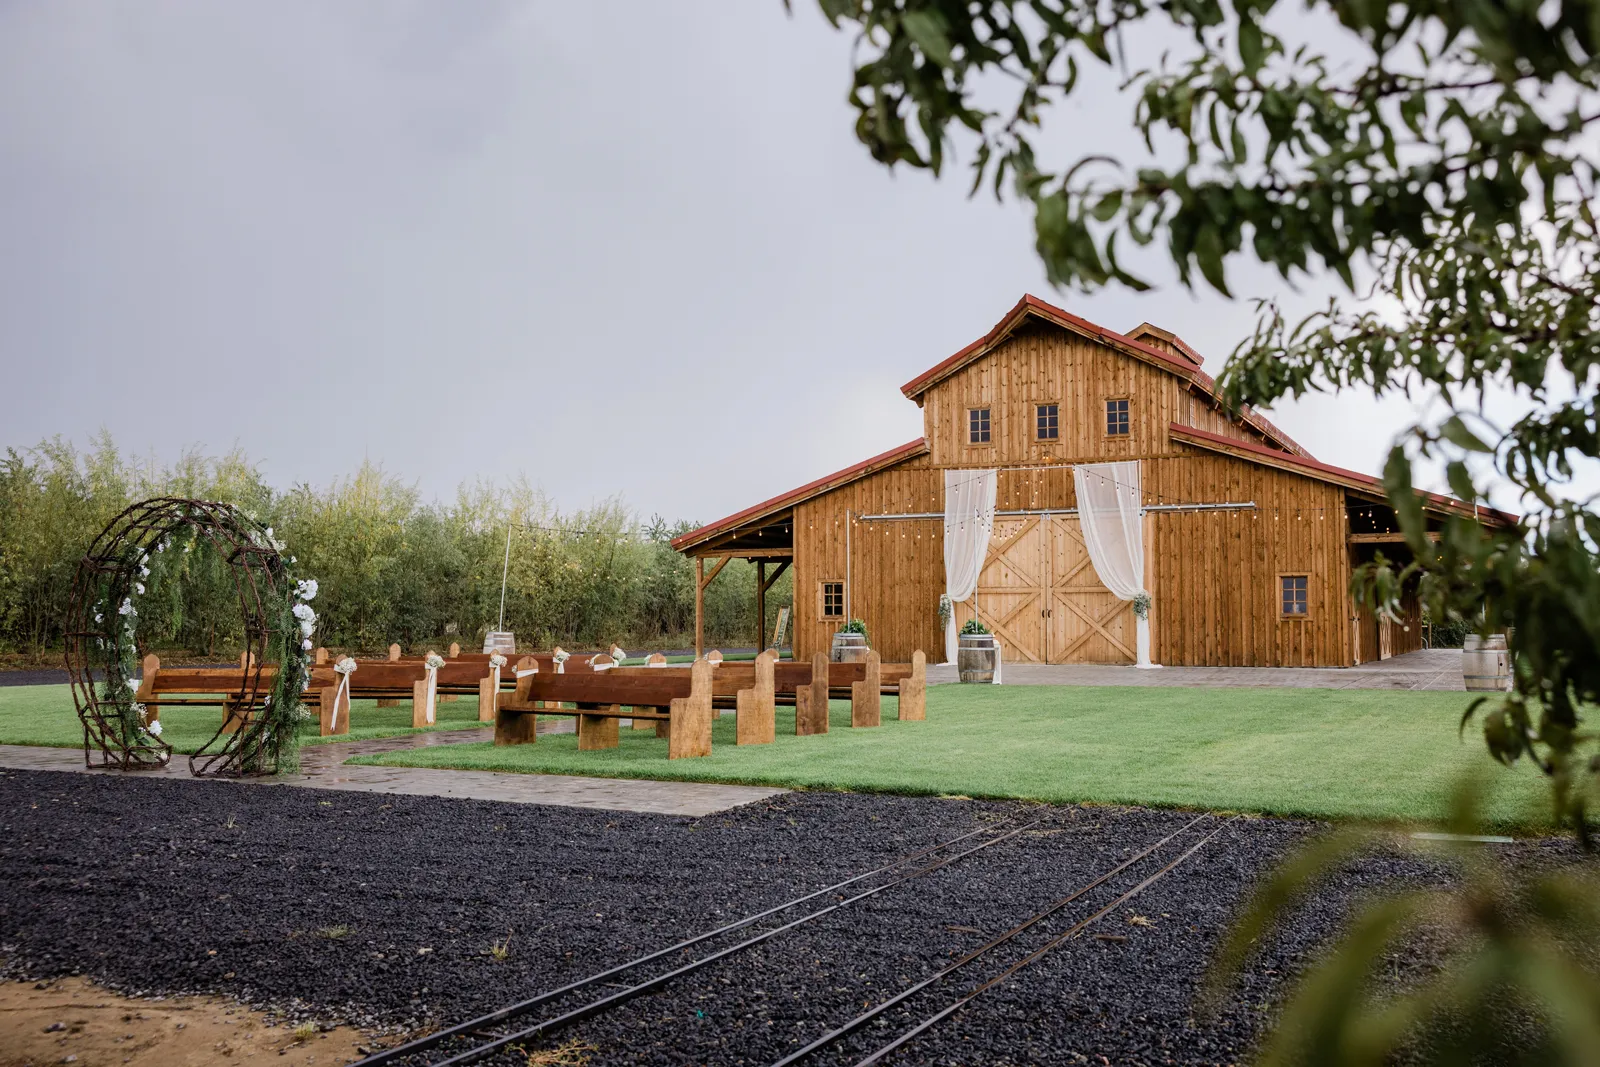
POLYGON ((133 1000, 80 977, 0 984, 0 1067, 200 1067, 269 1062, 333 1067, 370 1048, 360 1030, 267 1025, 221 997, 133 1000))

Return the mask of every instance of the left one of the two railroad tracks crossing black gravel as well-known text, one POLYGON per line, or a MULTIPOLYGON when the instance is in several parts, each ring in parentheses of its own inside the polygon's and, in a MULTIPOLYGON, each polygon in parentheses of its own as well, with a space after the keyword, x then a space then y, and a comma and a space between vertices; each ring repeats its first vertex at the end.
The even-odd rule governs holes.
POLYGON ((589 977, 579 979, 576 982, 570 982, 568 985, 562 985, 560 989, 552 989, 552 990, 538 993, 534 997, 530 997, 526 1000, 517 1001, 514 1005, 507 1005, 504 1008, 499 1008, 499 1009, 491 1011, 488 1014, 478 1016, 475 1019, 467 1019, 466 1022, 459 1022, 459 1024, 456 1024, 453 1027, 448 1027, 445 1030, 437 1030, 434 1033, 429 1033, 429 1035, 419 1037, 416 1040, 406 1041, 405 1045, 397 1045, 394 1048, 373 1053, 366 1059, 357 1061, 352 1067, 381 1067, 384 1064, 421 1064, 421 1062, 424 1062, 421 1057, 426 1056, 426 1054, 443 1056, 443 1059, 427 1059, 426 1062, 429 1064, 429 1067, 456 1067, 459 1064, 474 1064, 474 1062, 478 1062, 478 1061, 482 1061, 482 1059, 485 1059, 488 1056, 493 1056, 493 1054, 496 1054, 496 1053, 499 1053, 499 1051, 502 1051, 502 1049, 506 1049, 509 1046, 514 1046, 514 1045, 518 1045, 522 1041, 528 1041, 528 1040, 533 1040, 533 1038, 546 1037, 546 1035, 549 1035, 549 1033, 552 1033, 555 1030, 560 1030, 563 1027, 568 1027, 568 1025, 571 1025, 574 1022, 581 1022, 582 1019, 589 1019, 592 1016, 597 1016, 597 1014, 602 1014, 605 1011, 610 1011, 611 1008, 616 1008, 616 1006, 619 1006, 619 1005, 622 1005, 622 1003, 626 1003, 629 1000, 634 1000, 635 997, 643 997, 645 993, 651 993, 651 992, 654 992, 654 990, 658 990, 658 989, 670 984, 672 981, 675 981, 678 977, 683 977, 686 974, 699 971, 701 968, 710 966, 712 963, 717 963, 720 960, 726 960, 728 957, 733 957, 733 955, 736 955, 739 952, 752 949, 752 947, 762 944, 763 941, 776 937, 778 934, 782 934, 786 931, 795 929, 795 928, 803 926, 806 923, 816 921, 816 920, 822 918, 824 915, 830 915, 830 913, 834 913, 834 912, 837 912, 837 910, 840 910, 843 907, 850 907, 851 904, 858 904, 859 901, 870 899, 870 897, 874 897, 874 896, 877 896, 880 893, 885 893, 886 889, 893 889, 894 886, 904 885, 904 883, 907 883, 907 881, 910 881, 914 878, 922 878, 923 875, 933 873, 934 870, 941 870, 942 867, 947 867, 947 865, 950 865, 950 864, 954 864, 957 861, 962 861, 962 859, 965 859, 965 857, 968 857, 968 856, 971 856, 974 853, 981 853, 986 848, 992 848, 995 845, 1000 845, 1002 841, 1008 841, 1008 840, 1018 837, 1019 833, 1026 833, 1027 830, 1032 830, 1038 824, 1040 824, 1040 819, 1030 819, 1027 822, 1021 822, 1021 824, 1016 824, 1016 825, 1011 825, 1011 827, 1003 827, 1003 825, 1002 827, 979 827, 976 830, 970 830, 970 832, 962 833, 960 837, 954 837, 954 838, 950 838, 947 841, 941 841, 938 845, 933 845, 930 848, 920 849, 917 853, 910 853, 907 856, 901 856, 899 859, 896 859, 896 861, 893 861, 890 864, 885 864, 882 867, 877 867, 874 870, 867 870, 867 872, 854 875, 851 878, 845 878, 843 881, 835 881, 830 886, 824 886, 821 889, 814 889, 811 893, 797 896, 792 901, 786 901, 784 904, 778 904, 776 907, 770 907, 766 910, 755 912, 752 915, 746 915, 744 918, 739 918, 739 920, 734 920, 733 923, 726 923, 723 926, 718 926, 717 929, 710 929, 707 933, 696 934, 694 937, 686 937, 685 941, 678 941, 677 944, 667 945, 666 949, 659 949, 656 952, 637 957, 637 958, 629 960, 626 963, 619 963, 619 965, 616 965, 613 968, 608 968, 605 971, 598 971, 595 974, 590 974, 589 977), (966 848, 963 848, 960 851, 950 851, 955 846, 958 846, 958 845, 962 845, 965 841, 971 841, 973 838, 982 837, 982 835, 989 835, 989 837, 986 837, 984 840, 976 841, 973 845, 968 845, 966 848), (938 859, 930 859, 930 857, 933 857, 933 856, 936 856, 939 853, 946 853, 946 854, 942 857, 938 857, 938 859), (914 864, 917 864, 920 861, 930 861, 930 862, 925 862, 920 867, 914 867, 914 869, 910 869, 909 872, 904 872, 904 873, 894 873, 896 870, 902 870, 902 869, 910 867, 910 865, 914 865, 914 864), (693 960, 690 960, 686 963, 678 963, 677 966, 674 966, 672 969, 666 971, 664 974, 656 974, 656 976, 648 977, 645 981, 638 981, 638 982, 635 982, 632 985, 626 985, 626 987, 622 987, 622 989, 619 989, 616 992, 597 997, 595 1000, 590 1000, 590 1001, 587 1001, 584 1005, 579 1005, 576 1008, 570 1008, 570 1009, 566 1009, 566 1011, 563 1011, 560 1014, 550 1016, 547 1019, 541 1019, 541 1021, 538 1021, 538 1022, 534 1022, 531 1025, 520 1025, 518 1027, 518 1025, 514 1024, 514 1021, 518 1021, 518 1019, 522 1019, 525 1016, 530 1016, 534 1011, 538 1011, 539 1008, 542 1008, 542 1006, 546 1006, 546 1005, 549 1005, 552 1001, 557 1001, 560 998, 565 998, 565 997, 570 997, 573 993, 582 992, 582 990, 586 990, 586 989, 589 989, 592 985, 598 985, 602 982, 605 982, 608 985, 616 985, 616 982, 613 982, 611 979, 621 977, 621 976, 627 974, 629 971, 635 971, 635 969, 645 968, 650 963, 656 963, 656 961, 666 960, 669 957, 678 955, 678 953, 682 953, 682 952, 685 952, 688 949, 693 949, 696 945, 702 945, 707 941, 714 941, 717 937, 723 937, 726 934, 733 934, 736 931, 741 931, 741 929, 744 929, 747 926, 752 926, 752 925, 762 921, 763 918, 771 918, 774 915, 781 915, 782 912, 787 912, 790 909, 795 909, 795 907, 800 907, 800 905, 808 904, 811 901, 816 901, 818 897, 824 897, 824 896, 829 896, 829 894, 837 894, 842 889, 848 889, 850 886, 856 886, 856 885, 859 885, 862 881, 869 881, 872 878, 878 878, 878 877, 885 877, 885 875, 890 875, 888 881, 883 881, 883 883, 875 885, 875 886, 867 888, 867 889, 861 889, 859 893, 846 896, 846 897, 843 897, 840 901, 835 901, 832 904, 826 904, 826 905, 822 905, 822 907, 819 907, 816 910, 806 912, 802 917, 792 918, 792 920, 789 920, 789 921, 786 921, 782 925, 778 925, 778 926, 773 926, 770 929, 763 929, 760 933, 750 934, 749 937, 746 937, 746 939, 742 939, 742 941, 739 941, 736 944, 731 944, 731 945, 728 945, 725 949, 714 950, 714 952, 710 952, 707 955, 693 958, 693 960), (514 1027, 509 1029, 509 1030, 499 1029, 499 1027, 506 1027, 506 1024, 514 1024, 514 1027))

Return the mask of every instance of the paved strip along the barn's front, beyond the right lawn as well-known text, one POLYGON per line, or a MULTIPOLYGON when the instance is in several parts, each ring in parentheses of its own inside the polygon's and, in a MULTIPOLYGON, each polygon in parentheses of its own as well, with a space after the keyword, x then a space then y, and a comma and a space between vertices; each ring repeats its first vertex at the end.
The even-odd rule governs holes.
MULTIPOLYGON (((1286 689, 1461 689, 1461 649, 1432 648, 1360 667, 1109 667, 1005 664, 1006 685, 1152 685, 1286 689)), ((955 665, 928 667, 928 681, 955 681, 955 665)))

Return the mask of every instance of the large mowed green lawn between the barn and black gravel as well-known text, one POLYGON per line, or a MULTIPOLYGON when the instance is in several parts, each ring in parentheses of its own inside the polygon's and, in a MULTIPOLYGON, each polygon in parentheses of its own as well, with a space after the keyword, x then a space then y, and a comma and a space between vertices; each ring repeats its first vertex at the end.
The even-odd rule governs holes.
POLYGON ((835 701, 830 733, 795 737, 794 712, 779 709, 771 745, 734 745, 725 715, 701 760, 669 761, 664 739, 624 728, 602 752, 546 734, 352 761, 1381 821, 1442 816, 1462 771, 1486 768, 1494 824, 1547 824, 1536 771, 1494 768, 1474 728, 1458 739, 1466 704, 1462 693, 944 685, 928 689, 922 723, 893 718, 885 699, 883 726, 851 729, 835 701))

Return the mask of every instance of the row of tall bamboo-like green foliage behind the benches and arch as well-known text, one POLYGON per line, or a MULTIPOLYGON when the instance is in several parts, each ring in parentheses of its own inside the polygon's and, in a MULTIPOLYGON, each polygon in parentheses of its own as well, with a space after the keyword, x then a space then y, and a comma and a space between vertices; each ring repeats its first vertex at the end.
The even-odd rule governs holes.
MULTIPOLYGON (((0 648, 56 646, 90 541, 152 496, 234 504, 272 526, 296 557, 294 573, 322 585, 315 640, 331 648, 474 645, 499 621, 507 528, 506 629, 520 645, 659 646, 694 625, 693 563, 669 541, 696 523, 645 522, 619 498, 562 512, 518 480, 470 483, 453 501, 429 502, 371 464, 326 488, 277 491, 238 451, 190 451, 157 467, 131 462, 102 435, 88 451, 58 438, 0 459, 0 648)), ((235 654, 242 632, 227 568, 203 553, 163 566, 182 568, 182 581, 152 587, 160 592, 141 606, 141 641, 235 654)), ((730 563, 706 593, 707 638, 755 643, 754 568, 730 563)), ((789 593, 784 576, 768 611, 789 593)))

